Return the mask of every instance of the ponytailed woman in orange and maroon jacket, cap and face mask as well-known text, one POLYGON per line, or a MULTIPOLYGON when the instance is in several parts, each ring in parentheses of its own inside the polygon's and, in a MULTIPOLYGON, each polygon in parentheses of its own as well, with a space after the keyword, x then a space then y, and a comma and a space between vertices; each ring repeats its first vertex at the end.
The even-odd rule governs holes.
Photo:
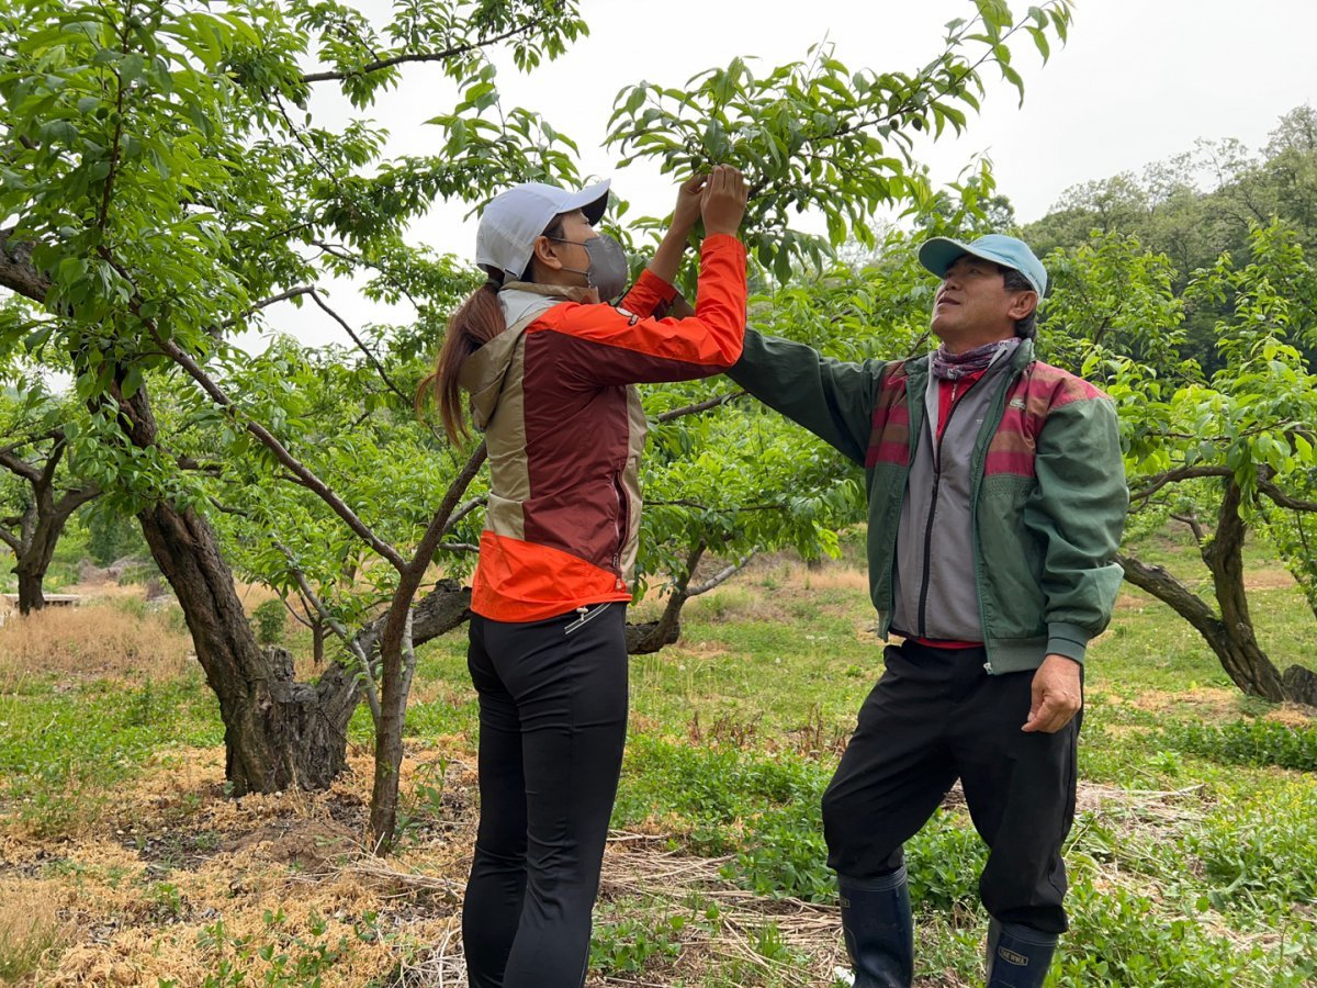
POLYGON ((594 229, 601 183, 525 183, 485 208, 489 274, 449 323, 427 385, 452 437, 462 391, 490 456, 468 665, 479 694, 481 819, 462 910, 473 988, 578 988, 627 727, 626 603, 645 415, 633 385, 740 357, 745 183, 686 182, 649 267, 623 294, 622 246, 594 229), (672 282, 703 216, 694 315, 672 282))

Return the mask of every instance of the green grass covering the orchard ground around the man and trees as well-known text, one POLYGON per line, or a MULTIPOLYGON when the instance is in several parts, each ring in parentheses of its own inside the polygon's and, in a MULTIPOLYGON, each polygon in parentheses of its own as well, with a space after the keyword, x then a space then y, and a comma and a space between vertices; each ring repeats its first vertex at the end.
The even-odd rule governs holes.
MULTIPOLYGON (((1195 572, 1183 540, 1159 537, 1147 549, 1150 561, 1195 572)), ((1250 565, 1275 573, 1255 547, 1250 565)), ((718 858, 720 881, 763 904, 743 929, 757 959, 723 956, 686 972, 682 959, 726 917, 710 901, 653 891, 601 905, 595 974, 705 988, 818 983, 809 952, 782 935, 774 900, 834 898, 819 797, 882 668, 863 581, 828 578, 836 573, 836 564, 822 574, 756 565, 691 602, 678 645, 631 660, 632 730, 614 826, 718 858)), ((1267 705, 1234 690, 1192 628, 1133 588, 1123 595, 1085 671, 1080 771, 1087 786, 1102 788, 1085 789, 1067 848, 1073 930, 1051 984, 1310 984, 1317 725, 1268 719, 1267 705)), ((1312 661, 1312 613, 1297 589, 1259 589, 1251 603, 1277 665, 1312 661)), ((299 635, 290 645, 308 648, 299 635)), ((407 738, 466 744, 475 732, 465 635, 456 632, 420 649, 407 738)), ((369 747, 371 736, 362 707, 349 739, 369 747)), ((0 696, 0 810, 58 837, 162 750, 221 740, 195 671, 134 688, 26 677, 21 693, 0 696)), ((427 809, 420 794, 439 805, 441 780, 417 793, 417 811, 427 809)), ((984 855, 955 808, 907 846, 922 975, 981 977, 984 855)), ((171 901, 167 885, 149 891, 171 901)), ((281 950, 291 976, 340 946, 288 941, 281 950)), ((3 954, 0 946, 0 964, 3 954)))

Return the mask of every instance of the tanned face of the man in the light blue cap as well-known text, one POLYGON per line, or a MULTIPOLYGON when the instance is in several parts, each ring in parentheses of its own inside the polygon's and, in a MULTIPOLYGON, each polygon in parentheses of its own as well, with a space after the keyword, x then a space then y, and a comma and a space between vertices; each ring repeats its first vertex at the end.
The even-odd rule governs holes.
POLYGON ((1015 335, 1015 320, 1033 311, 1031 291, 1006 291, 1001 267, 961 254, 947 269, 932 303, 931 328, 952 352, 982 346, 1015 335))

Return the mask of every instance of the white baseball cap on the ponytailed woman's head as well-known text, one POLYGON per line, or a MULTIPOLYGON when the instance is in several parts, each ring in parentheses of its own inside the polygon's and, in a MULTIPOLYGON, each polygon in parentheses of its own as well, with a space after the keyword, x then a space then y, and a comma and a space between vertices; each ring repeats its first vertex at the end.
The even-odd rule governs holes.
POLYGON ((523 182, 494 196, 475 231, 475 263, 490 274, 520 278, 531 263, 535 241, 554 216, 581 209, 590 224, 608 206, 608 182, 573 192, 543 182, 523 182))

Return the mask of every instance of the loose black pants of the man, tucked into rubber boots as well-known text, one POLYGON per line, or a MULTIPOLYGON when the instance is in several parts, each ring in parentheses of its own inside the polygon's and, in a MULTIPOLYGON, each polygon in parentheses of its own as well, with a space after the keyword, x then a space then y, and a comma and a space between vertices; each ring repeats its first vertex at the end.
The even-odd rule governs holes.
POLYGON ((823 794, 828 864, 874 879, 903 864, 914 837, 959 777, 990 852, 979 880, 997 919, 1065 931, 1062 844, 1075 818, 1081 714, 1025 734, 1033 672, 989 676, 982 648, 888 647, 886 672, 823 794))

